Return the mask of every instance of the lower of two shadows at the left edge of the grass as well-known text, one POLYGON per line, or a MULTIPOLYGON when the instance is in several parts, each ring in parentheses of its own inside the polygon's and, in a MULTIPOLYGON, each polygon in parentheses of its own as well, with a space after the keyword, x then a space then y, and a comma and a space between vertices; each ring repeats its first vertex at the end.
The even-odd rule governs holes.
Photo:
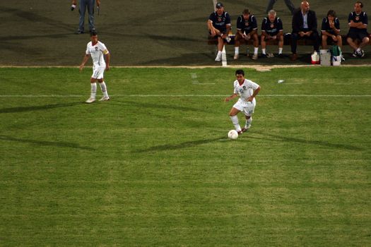
POLYGON ((88 150, 88 151, 95 151, 95 148, 93 147, 84 147, 79 145, 78 143, 69 143, 69 142, 52 142, 48 140, 30 140, 30 139, 23 139, 23 138, 14 138, 7 135, 0 135, 0 140, 6 140, 11 142, 17 142, 17 143, 29 143, 33 145, 39 145, 39 146, 46 146, 46 147, 70 147, 70 148, 76 148, 76 149, 82 149, 82 150, 88 150))

